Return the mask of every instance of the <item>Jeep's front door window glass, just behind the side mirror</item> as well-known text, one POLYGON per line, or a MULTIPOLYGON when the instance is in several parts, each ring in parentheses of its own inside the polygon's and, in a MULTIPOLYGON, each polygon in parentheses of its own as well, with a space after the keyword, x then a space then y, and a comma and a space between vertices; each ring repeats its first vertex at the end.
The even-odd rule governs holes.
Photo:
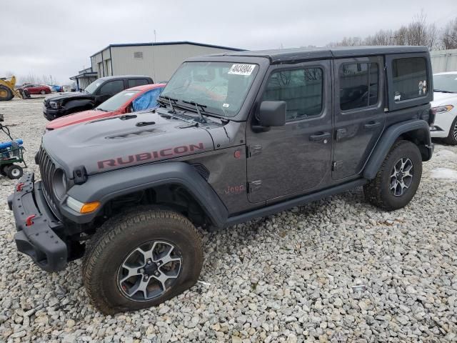
POLYGON ((274 71, 262 100, 286 101, 286 121, 318 116, 323 107, 323 71, 321 68, 274 71))

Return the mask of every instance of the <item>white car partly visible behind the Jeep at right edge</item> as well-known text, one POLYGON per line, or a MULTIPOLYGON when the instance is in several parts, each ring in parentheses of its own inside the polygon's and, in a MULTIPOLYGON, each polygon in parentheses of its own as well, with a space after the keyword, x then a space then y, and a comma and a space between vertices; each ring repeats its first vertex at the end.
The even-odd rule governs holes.
POLYGON ((457 71, 433 74, 433 91, 436 119, 431 136, 457 145, 457 71))

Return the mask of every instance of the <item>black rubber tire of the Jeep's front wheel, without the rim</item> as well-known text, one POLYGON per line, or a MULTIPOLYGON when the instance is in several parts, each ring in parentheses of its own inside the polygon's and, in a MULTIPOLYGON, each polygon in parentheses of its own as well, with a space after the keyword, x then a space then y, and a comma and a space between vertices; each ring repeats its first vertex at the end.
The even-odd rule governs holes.
POLYGON ((104 314, 115 314, 156 306, 184 292, 196 283, 202 264, 200 235, 189 219, 168 210, 139 209, 113 217, 99 228, 86 247, 82 276, 92 304, 104 314), (181 269, 164 294, 134 301, 119 289, 119 267, 132 250, 150 241, 174 244, 181 252, 181 269))

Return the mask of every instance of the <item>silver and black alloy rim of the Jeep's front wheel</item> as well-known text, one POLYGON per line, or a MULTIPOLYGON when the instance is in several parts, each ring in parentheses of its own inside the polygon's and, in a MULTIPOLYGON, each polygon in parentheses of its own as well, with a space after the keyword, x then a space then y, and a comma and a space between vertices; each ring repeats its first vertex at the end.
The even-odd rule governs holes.
POLYGON ((136 302, 160 297, 174 286, 181 265, 181 252, 173 244, 146 242, 132 250, 119 267, 119 289, 136 302))

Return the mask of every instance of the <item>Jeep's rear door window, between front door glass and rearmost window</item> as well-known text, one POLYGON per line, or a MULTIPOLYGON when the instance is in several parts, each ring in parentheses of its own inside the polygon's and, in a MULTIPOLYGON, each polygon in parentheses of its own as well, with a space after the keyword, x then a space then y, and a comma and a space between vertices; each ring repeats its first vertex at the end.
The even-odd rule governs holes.
POLYGON ((378 102, 379 67, 377 63, 343 64, 339 71, 340 109, 361 109, 378 102))

